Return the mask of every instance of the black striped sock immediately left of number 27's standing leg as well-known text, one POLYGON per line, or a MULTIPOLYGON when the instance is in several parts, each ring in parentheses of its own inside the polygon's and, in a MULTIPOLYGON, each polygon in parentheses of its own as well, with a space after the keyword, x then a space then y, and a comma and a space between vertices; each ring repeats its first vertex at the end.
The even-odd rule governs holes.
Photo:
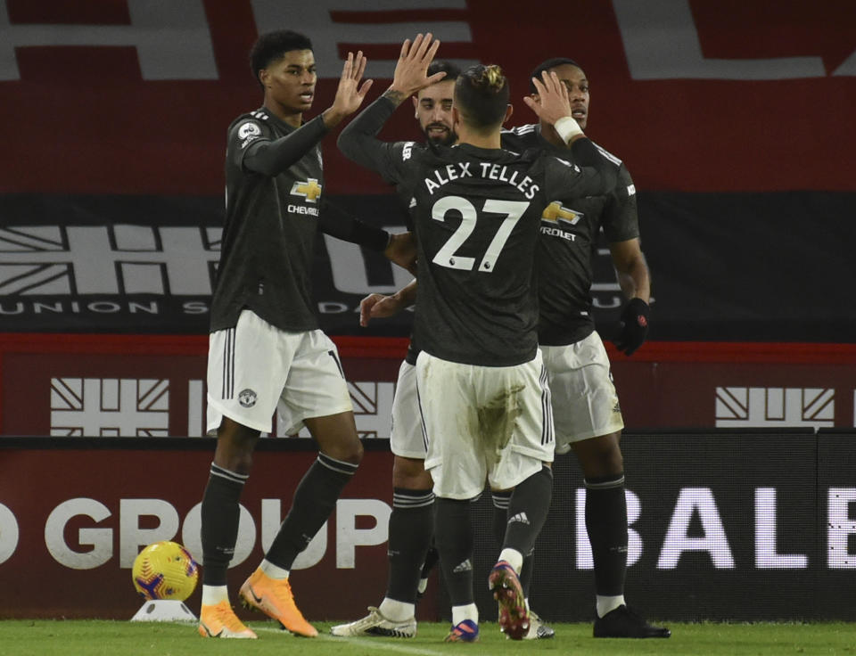
POLYGON ((386 596, 416 603, 416 588, 433 533, 434 495, 430 489, 392 489, 389 578, 386 596))

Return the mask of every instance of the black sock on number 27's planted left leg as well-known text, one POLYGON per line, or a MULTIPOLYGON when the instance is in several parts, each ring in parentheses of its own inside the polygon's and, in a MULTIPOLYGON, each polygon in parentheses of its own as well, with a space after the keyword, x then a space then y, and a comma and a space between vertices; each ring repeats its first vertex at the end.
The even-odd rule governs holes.
POLYGON ((470 501, 434 501, 434 541, 453 606, 473 603, 473 526, 470 501))

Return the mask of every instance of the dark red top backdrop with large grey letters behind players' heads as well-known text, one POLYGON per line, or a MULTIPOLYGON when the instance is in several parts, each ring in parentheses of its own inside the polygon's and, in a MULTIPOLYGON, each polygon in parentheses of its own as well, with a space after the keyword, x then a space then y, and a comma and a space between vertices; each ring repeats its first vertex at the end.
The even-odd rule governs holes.
MULTIPOLYGON (((349 50, 383 91, 405 37, 432 31, 440 57, 497 62, 515 121, 529 72, 580 61, 589 134, 627 161, 639 189, 853 191, 856 5, 825 0, 5 0, 0 4, 3 193, 215 194, 226 127, 260 102, 247 53, 260 31, 314 39, 332 102, 349 50), (556 26, 555 28, 549 26, 556 26)), ((399 133, 416 138, 408 112, 399 133)), ((325 143, 333 193, 385 193, 325 143)))

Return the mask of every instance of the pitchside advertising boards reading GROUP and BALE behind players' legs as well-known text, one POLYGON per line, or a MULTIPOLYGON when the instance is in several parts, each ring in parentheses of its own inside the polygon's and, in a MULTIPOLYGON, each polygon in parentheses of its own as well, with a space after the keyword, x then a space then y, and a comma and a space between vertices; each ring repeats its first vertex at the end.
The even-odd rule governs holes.
MULTIPOLYGON (((142 600, 130 568, 144 545, 175 539, 200 557, 213 447, 186 438, 0 440, 0 617, 133 616, 142 600)), ((622 451, 627 591, 650 617, 856 620, 856 432, 629 433, 622 451)), ((314 457, 307 440, 259 444, 241 499, 234 602, 314 457)), ((292 585, 309 619, 362 617, 383 598, 390 470, 386 440, 366 440, 360 471, 295 562, 292 585)), ((584 494, 574 459, 557 458, 531 592, 551 621, 592 617, 584 494)), ((476 582, 487 579, 498 550, 491 504, 490 495, 473 504, 476 582)), ((418 617, 448 619, 436 575, 429 592, 418 617)), ((199 594, 188 602, 194 612, 199 594)), ((495 619, 487 586, 476 594, 481 617, 495 619)))

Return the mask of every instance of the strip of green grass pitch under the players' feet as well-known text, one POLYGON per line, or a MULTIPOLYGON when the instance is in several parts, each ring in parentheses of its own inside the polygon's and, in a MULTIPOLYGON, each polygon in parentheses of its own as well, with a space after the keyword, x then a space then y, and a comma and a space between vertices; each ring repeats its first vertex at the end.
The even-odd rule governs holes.
POLYGON ((553 624, 552 640, 506 640, 492 622, 481 623, 476 644, 444 644, 446 623, 419 623, 415 638, 336 638, 332 622, 317 622, 318 638, 295 637, 273 622, 249 622, 259 640, 202 639, 193 624, 107 620, 18 619, 0 621, 2 656, 503 656, 504 654, 833 654, 856 656, 856 624, 674 624, 671 638, 600 640, 590 624, 553 624))

